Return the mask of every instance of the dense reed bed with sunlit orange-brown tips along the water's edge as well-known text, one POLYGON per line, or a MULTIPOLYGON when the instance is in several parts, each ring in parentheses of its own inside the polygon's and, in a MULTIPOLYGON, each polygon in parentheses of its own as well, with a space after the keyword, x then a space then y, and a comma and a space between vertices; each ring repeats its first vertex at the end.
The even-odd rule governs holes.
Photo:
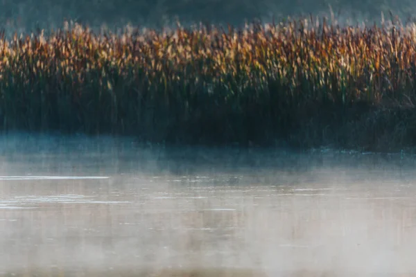
POLYGON ((75 25, 0 40, 5 131, 413 146, 415 93, 415 24, 75 25))

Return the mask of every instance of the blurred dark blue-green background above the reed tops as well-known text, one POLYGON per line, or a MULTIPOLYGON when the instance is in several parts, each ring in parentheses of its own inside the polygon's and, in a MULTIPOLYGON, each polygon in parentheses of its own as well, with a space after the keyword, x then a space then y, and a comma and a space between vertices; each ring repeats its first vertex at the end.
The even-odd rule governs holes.
POLYGON ((60 26, 64 20, 91 27, 138 24, 150 27, 208 21, 212 24, 243 24, 253 18, 270 21, 299 15, 327 15, 338 20, 379 21, 381 12, 401 19, 413 17, 411 0, 1 0, 0 24, 7 28, 34 30, 60 26))

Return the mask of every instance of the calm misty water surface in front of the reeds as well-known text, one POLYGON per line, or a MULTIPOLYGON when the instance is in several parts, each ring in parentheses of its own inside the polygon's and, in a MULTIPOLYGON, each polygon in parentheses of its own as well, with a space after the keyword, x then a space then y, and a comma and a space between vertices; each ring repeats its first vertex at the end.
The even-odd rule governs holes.
POLYGON ((411 154, 0 138, 2 276, 412 276, 411 154))

